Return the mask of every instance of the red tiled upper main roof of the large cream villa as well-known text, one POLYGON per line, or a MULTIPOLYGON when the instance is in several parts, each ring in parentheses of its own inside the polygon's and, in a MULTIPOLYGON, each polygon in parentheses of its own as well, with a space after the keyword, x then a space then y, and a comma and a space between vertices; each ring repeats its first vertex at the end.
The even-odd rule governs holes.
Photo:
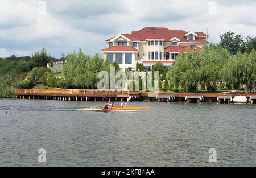
MULTIPOLYGON (((205 36, 203 32, 195 32, 199 36, 205 36)), ((144 41, 146 39, 164 39, 170 40, 171 38, 179 38, 180 42, 199 42, 199 43, 208 43, 206 40, 201 39, 200 37, 196 37, 195 40, 187 40, 185 38, 186 31, 183 30, 170 30, 168 28, 163 27, 145 27, 139 31, 133 31, 132 34, 122 34, 131 40, 141 40, 144 41)), ((112 38, 110 38, 112 39, 112 38)), ((110 39, 106 40, 109 41, 110 39)))

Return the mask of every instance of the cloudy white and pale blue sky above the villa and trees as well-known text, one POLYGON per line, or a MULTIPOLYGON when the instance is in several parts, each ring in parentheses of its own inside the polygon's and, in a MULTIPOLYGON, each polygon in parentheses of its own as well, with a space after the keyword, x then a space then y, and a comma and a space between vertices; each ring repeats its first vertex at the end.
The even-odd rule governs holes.
POLYGON ((256 35, 254 0, 0 0, 0 12, 0 57, 31 56, 43 45, 57 58, 79 47, 93 55, 106 39, 151 26, 208 28, 210 42, 229 30, 256 35))

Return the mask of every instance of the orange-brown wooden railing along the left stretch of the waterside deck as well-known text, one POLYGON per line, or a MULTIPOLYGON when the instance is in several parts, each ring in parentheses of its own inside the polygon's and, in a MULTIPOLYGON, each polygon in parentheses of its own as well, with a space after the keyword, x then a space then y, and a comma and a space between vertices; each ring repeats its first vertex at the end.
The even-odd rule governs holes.
POLYGON ((139 94, 139 91, 97 89, 15 89, 15 94, 67 94, 113 96, 139 94))

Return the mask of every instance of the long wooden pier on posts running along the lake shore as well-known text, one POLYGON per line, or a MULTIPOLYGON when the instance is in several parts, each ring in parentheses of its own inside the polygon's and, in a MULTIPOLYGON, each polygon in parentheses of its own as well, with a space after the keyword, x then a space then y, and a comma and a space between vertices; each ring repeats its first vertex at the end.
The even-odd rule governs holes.
MULTIPOLYGON (((158 102, 232 102, 236 93, 146 93, 129 90, 94 90, 94 89, 15 89, 17 99, 44 99, 64 101, 158 101, 158 102)), ((241 94, 249 102, 256 103, 256 93, 241 94)))

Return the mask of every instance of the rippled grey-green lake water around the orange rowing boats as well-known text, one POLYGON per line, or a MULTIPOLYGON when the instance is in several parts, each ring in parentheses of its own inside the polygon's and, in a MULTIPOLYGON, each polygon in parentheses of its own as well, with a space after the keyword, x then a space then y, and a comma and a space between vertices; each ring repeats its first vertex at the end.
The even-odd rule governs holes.
POLYGON ((104 102, 0 100, 0 165, 256 165, 255 104, 130 102, 151 109, 76 111, 95 105, 104 102))

